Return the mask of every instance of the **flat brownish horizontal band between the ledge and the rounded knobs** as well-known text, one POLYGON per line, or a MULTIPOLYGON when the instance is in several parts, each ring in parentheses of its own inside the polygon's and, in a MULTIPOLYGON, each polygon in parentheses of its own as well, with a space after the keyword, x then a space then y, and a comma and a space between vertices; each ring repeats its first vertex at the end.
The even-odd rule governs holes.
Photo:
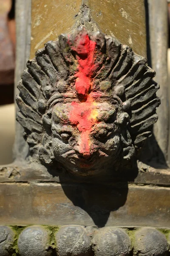
POLYGON ((1 183, 0 195, 2 225, 7 221, 10 225, 31 223, 100 227, 134 227, 140 223, 142 227, 170 228, 168 187, 130 184, 127 193, 127 188, 123 186, 117 189, 96 184, 61 186, 49 181, 8 182, 1 183))

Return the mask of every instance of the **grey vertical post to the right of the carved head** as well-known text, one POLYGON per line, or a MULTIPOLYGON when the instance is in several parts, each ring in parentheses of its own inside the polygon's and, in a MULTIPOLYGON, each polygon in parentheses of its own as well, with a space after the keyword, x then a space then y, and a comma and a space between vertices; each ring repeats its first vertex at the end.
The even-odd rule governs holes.
MULTIPOLYGON (((161 99, 157 113, 158 122, 154 125, 154 135, 167 160, 169 131, 169 79, 167 70, 168 49, 168 17, 167 0, 147 0, 148 4, 148 48, 150 49, 150 62, 156 71, 156 81, 160 84, 158 96, 161 99)), ((169 137, 170 138, 170 137, 169 137)), ((155 148, 154 148, 155 149, 155 148)), ((160 154, 157 153, 157 161, 160 154)), ((161 160, 162 161, 162 160, 161 160)))

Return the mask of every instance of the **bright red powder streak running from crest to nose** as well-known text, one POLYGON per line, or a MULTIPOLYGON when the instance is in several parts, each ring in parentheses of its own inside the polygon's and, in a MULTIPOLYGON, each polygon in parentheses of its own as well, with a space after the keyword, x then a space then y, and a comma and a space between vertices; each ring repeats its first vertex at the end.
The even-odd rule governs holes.
POLYGON ((80 132, 78 138, 79 153, 84 157, 91 156, 90 133, 96 123, 95 104, 89 93, 92 86, 92 76, 96 70, 94 64, 96 42, 91 41, 85 33, 79 34, 72 49, 76 52, 78 61, 78 72, 76 77, 76 91, 81 95, 82 102, 72 102, 70 121, 77 125, 80 132))

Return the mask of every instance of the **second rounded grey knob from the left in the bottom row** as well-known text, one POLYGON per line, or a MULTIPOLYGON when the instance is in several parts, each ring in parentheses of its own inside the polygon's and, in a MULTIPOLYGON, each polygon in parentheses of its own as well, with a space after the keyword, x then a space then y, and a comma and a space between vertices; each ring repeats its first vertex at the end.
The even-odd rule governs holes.
POLYGON ((18 239, 19 253, 21 256, 50 256, 48 242, 48 232, 44 228, 27 227, 18 239))

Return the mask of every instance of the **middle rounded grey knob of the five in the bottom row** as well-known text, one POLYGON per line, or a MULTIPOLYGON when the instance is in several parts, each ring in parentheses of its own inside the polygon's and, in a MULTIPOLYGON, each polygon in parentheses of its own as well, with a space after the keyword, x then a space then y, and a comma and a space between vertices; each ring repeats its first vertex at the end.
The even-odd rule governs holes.
POLYGON ((87 256, 91 251, 91 238, 81 226, 64 226, 55 237, 59 256, 87 256))

